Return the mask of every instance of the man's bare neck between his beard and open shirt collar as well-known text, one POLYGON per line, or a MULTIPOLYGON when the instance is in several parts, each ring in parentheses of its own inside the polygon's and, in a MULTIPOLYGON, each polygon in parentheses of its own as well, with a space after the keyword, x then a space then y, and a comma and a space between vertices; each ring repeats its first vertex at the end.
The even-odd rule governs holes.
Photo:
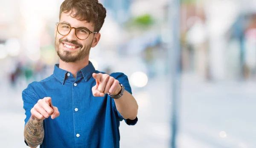
POLYGON ((69 71, 70 73, 73 74, 75 78, 76 78, 76 73, 79 70, 83 69, 88 64, 89 64, 89 56, 87 56, 86 58, 80 61, 69 62, 69 63, 62 61, 61 59, 59 60, 59 68, 69 71))

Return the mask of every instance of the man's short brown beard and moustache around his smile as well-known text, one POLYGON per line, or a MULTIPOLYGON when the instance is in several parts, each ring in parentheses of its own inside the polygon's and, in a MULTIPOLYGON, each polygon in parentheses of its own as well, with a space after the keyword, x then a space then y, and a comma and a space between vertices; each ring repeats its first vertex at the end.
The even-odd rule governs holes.
POLYGON ((86 56, 90 53, 91 45, 93 44, 93 41, 90 43, 90 45, 81 45, 76 41, 68 41, 67 39, 59 39, 57 42, 57 39, 55 39, 55 49, 60 57, 60 59, 64 62, 76 62, 84 59, 86 56), (62 42, 70 42, 74 45, 79 46, 79 50, 76 52, 71 52, 67 50, 61 50, 62 42))

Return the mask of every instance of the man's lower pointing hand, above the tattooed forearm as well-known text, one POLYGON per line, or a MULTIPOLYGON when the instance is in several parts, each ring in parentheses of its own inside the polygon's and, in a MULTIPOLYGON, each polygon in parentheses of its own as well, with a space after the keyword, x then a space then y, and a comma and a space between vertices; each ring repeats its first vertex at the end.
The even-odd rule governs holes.
POLYGON ((52 98, 50 97, 38 100, 38 103, 35 104, 30 112, 33 117, 39 120, 44 120, 50 116, 54 119, 60 115, 58 108, 52 106, 52 98))

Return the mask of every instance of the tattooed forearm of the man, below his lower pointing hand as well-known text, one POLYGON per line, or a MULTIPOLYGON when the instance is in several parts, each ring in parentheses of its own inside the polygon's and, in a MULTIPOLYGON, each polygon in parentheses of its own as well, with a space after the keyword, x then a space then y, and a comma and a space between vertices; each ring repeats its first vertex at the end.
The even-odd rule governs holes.
POLYGON ((24 137, 29 146, 41 145, 44 140, 43 120, 35 119, 31 116, 25 126, 24 137))

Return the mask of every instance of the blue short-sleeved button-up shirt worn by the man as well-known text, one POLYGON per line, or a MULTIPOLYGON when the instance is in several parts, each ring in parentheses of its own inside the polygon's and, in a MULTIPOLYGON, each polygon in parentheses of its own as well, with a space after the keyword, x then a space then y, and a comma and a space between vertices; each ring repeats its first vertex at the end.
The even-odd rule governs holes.
MULTIPOLYGON (((119 148, 119 125, 124 120, 108 95, 94 97, 92 87, 96 85, 93 73, 102 73, 89 64, 76 74, 62 70, 55 64, 54 73, 48 78, 32 82, 23 90, 25 125, 31 117, 30 110, 44 97, 52 98, 60 116, 44 120, 44 141, 40 148, 119 148)), ((111 76, 131 93, 128 78, 123 73, 111 76)), ((125 120, 135 125, 135 120, 125 120)))

